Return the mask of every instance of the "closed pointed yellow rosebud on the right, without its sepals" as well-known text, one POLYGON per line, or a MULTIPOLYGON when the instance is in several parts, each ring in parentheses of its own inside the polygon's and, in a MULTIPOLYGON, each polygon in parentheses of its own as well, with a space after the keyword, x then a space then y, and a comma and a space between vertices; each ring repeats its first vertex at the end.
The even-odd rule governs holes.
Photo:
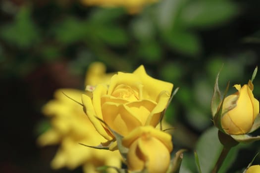
POLYGON ((221 125, 228 134, 245 134, 249 132, 259 114, 259 101, 254 98, 254 86, 251 81, 242 88, 234 86, 238 91, 224 99, 221 125), (232 105, 236 106, 227 111, 232 105))

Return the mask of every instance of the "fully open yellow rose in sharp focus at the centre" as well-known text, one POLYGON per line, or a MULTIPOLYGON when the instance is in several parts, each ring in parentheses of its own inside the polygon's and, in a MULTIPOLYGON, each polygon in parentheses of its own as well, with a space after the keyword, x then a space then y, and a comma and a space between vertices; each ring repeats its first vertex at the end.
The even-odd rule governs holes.
POLYGON ((172 87, 171 83, 148 76, 140 66, 133 73, 118 72, 108 86, 97 85, 92 97, 82 95, 82 102, 95 128, 111 140, 114 136, 96 117, 123 136, 139 126, 156 127, 172 87))

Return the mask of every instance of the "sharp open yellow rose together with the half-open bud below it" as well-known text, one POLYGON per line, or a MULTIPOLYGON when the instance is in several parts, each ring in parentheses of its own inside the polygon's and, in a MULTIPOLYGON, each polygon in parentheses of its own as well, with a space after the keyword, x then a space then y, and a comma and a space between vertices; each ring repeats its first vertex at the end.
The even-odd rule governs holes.
POLYGON ((86 115, 110 143, 109 149, 117 149, 113 131, 123 136, 122 144, 129 149, 128 170, 167 171, 173 148, 171 135, 155 128, 172 88, 173 84, 150 77, 140 66, 133 73, 113 75, 109 85, 98 84, 91 96, 82 95, 86 115))

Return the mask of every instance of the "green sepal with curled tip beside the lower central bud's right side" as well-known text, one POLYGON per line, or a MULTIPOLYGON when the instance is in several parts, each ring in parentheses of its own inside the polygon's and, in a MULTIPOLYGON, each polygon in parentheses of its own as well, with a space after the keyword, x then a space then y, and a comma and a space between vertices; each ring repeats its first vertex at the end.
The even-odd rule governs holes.
POLYGON ((171 160, 169 168, 166 173, 179 173, 181 168, 181 162, 183 158, 183 152, 187 151, 186 149, 180 149, 175 153, 174 158, 171 160))

